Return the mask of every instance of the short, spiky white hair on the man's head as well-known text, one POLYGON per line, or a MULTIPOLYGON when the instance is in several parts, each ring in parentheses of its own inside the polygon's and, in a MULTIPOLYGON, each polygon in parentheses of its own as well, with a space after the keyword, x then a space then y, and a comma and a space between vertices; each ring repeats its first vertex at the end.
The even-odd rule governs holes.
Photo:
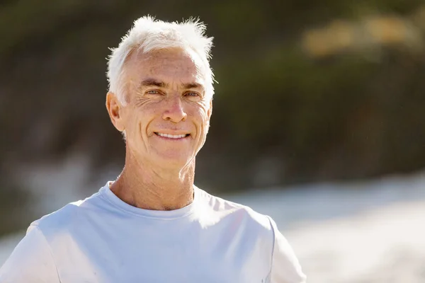
POLYGON ((183 50, 196 52, 205 64, 205 92, 212 98, 214 88, 212 82, 214 74, 210 68, 210 50, 212 37, 205 36, 205 25, 196 19, 189 19, 182 23, 168 23, 156 20, 151 16, 144 16, 135 21, 132 28, 122 38, 117 48, 111 48, 112 54, 108 59, 109 91, 115 93, 121 103, 125 104, 123 85, 123 67, 125 59, 133 50, 147 53, 179 47, 183 50))

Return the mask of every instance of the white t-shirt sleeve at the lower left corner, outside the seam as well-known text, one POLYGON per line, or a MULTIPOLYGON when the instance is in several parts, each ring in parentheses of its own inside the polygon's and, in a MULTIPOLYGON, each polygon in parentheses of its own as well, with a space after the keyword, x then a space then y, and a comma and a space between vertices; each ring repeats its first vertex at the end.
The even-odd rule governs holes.
POLYGON ((31 225, 0 268, 0 283, 60 283, 50 246, 38 226, 31 225))

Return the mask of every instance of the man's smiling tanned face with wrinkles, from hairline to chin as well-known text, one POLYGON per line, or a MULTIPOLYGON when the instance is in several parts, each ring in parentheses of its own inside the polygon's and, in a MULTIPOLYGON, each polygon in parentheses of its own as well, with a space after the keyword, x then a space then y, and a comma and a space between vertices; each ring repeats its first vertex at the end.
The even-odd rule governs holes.
POLYGON ((205 67, 180 49, 134 52, 125 64, 127 104, 120 108, 127 151, 142 163, 183 167, 205 143, 212 98, 205 67))

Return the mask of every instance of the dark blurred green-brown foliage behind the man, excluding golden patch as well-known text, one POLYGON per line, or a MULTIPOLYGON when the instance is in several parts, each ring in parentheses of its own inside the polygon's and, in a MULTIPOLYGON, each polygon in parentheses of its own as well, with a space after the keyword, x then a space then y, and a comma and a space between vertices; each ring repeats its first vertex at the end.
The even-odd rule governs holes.
POLYGON ((334 20, 363 27, 364 18, 385 15, 420 30, 415 38, 423 42, 425 25, 416 13, 421 5, 3 1, 1 161, 57 160, 84 151, 98 170, 122 163, 123 141, 103 106, 106 57, 132 21, 149 13, 166 21, 200 16, 215 37, 212 67, 219 83, 209 138, 198 158, 200 185, 228 190, 423 168, 424 51, 402 43, 363 48, 355 40, 359 49, 318 57, 303 45, 306 32, 334 20))

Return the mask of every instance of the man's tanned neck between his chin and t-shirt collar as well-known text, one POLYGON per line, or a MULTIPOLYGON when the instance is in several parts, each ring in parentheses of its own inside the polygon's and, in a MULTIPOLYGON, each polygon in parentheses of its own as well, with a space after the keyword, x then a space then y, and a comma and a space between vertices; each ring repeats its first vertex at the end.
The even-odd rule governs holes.
POLYGON ((195 159, 183 168, 161 168, 126 156, 125 167, 111 191, 142 209, 174 210, 193 202, 195 159))

